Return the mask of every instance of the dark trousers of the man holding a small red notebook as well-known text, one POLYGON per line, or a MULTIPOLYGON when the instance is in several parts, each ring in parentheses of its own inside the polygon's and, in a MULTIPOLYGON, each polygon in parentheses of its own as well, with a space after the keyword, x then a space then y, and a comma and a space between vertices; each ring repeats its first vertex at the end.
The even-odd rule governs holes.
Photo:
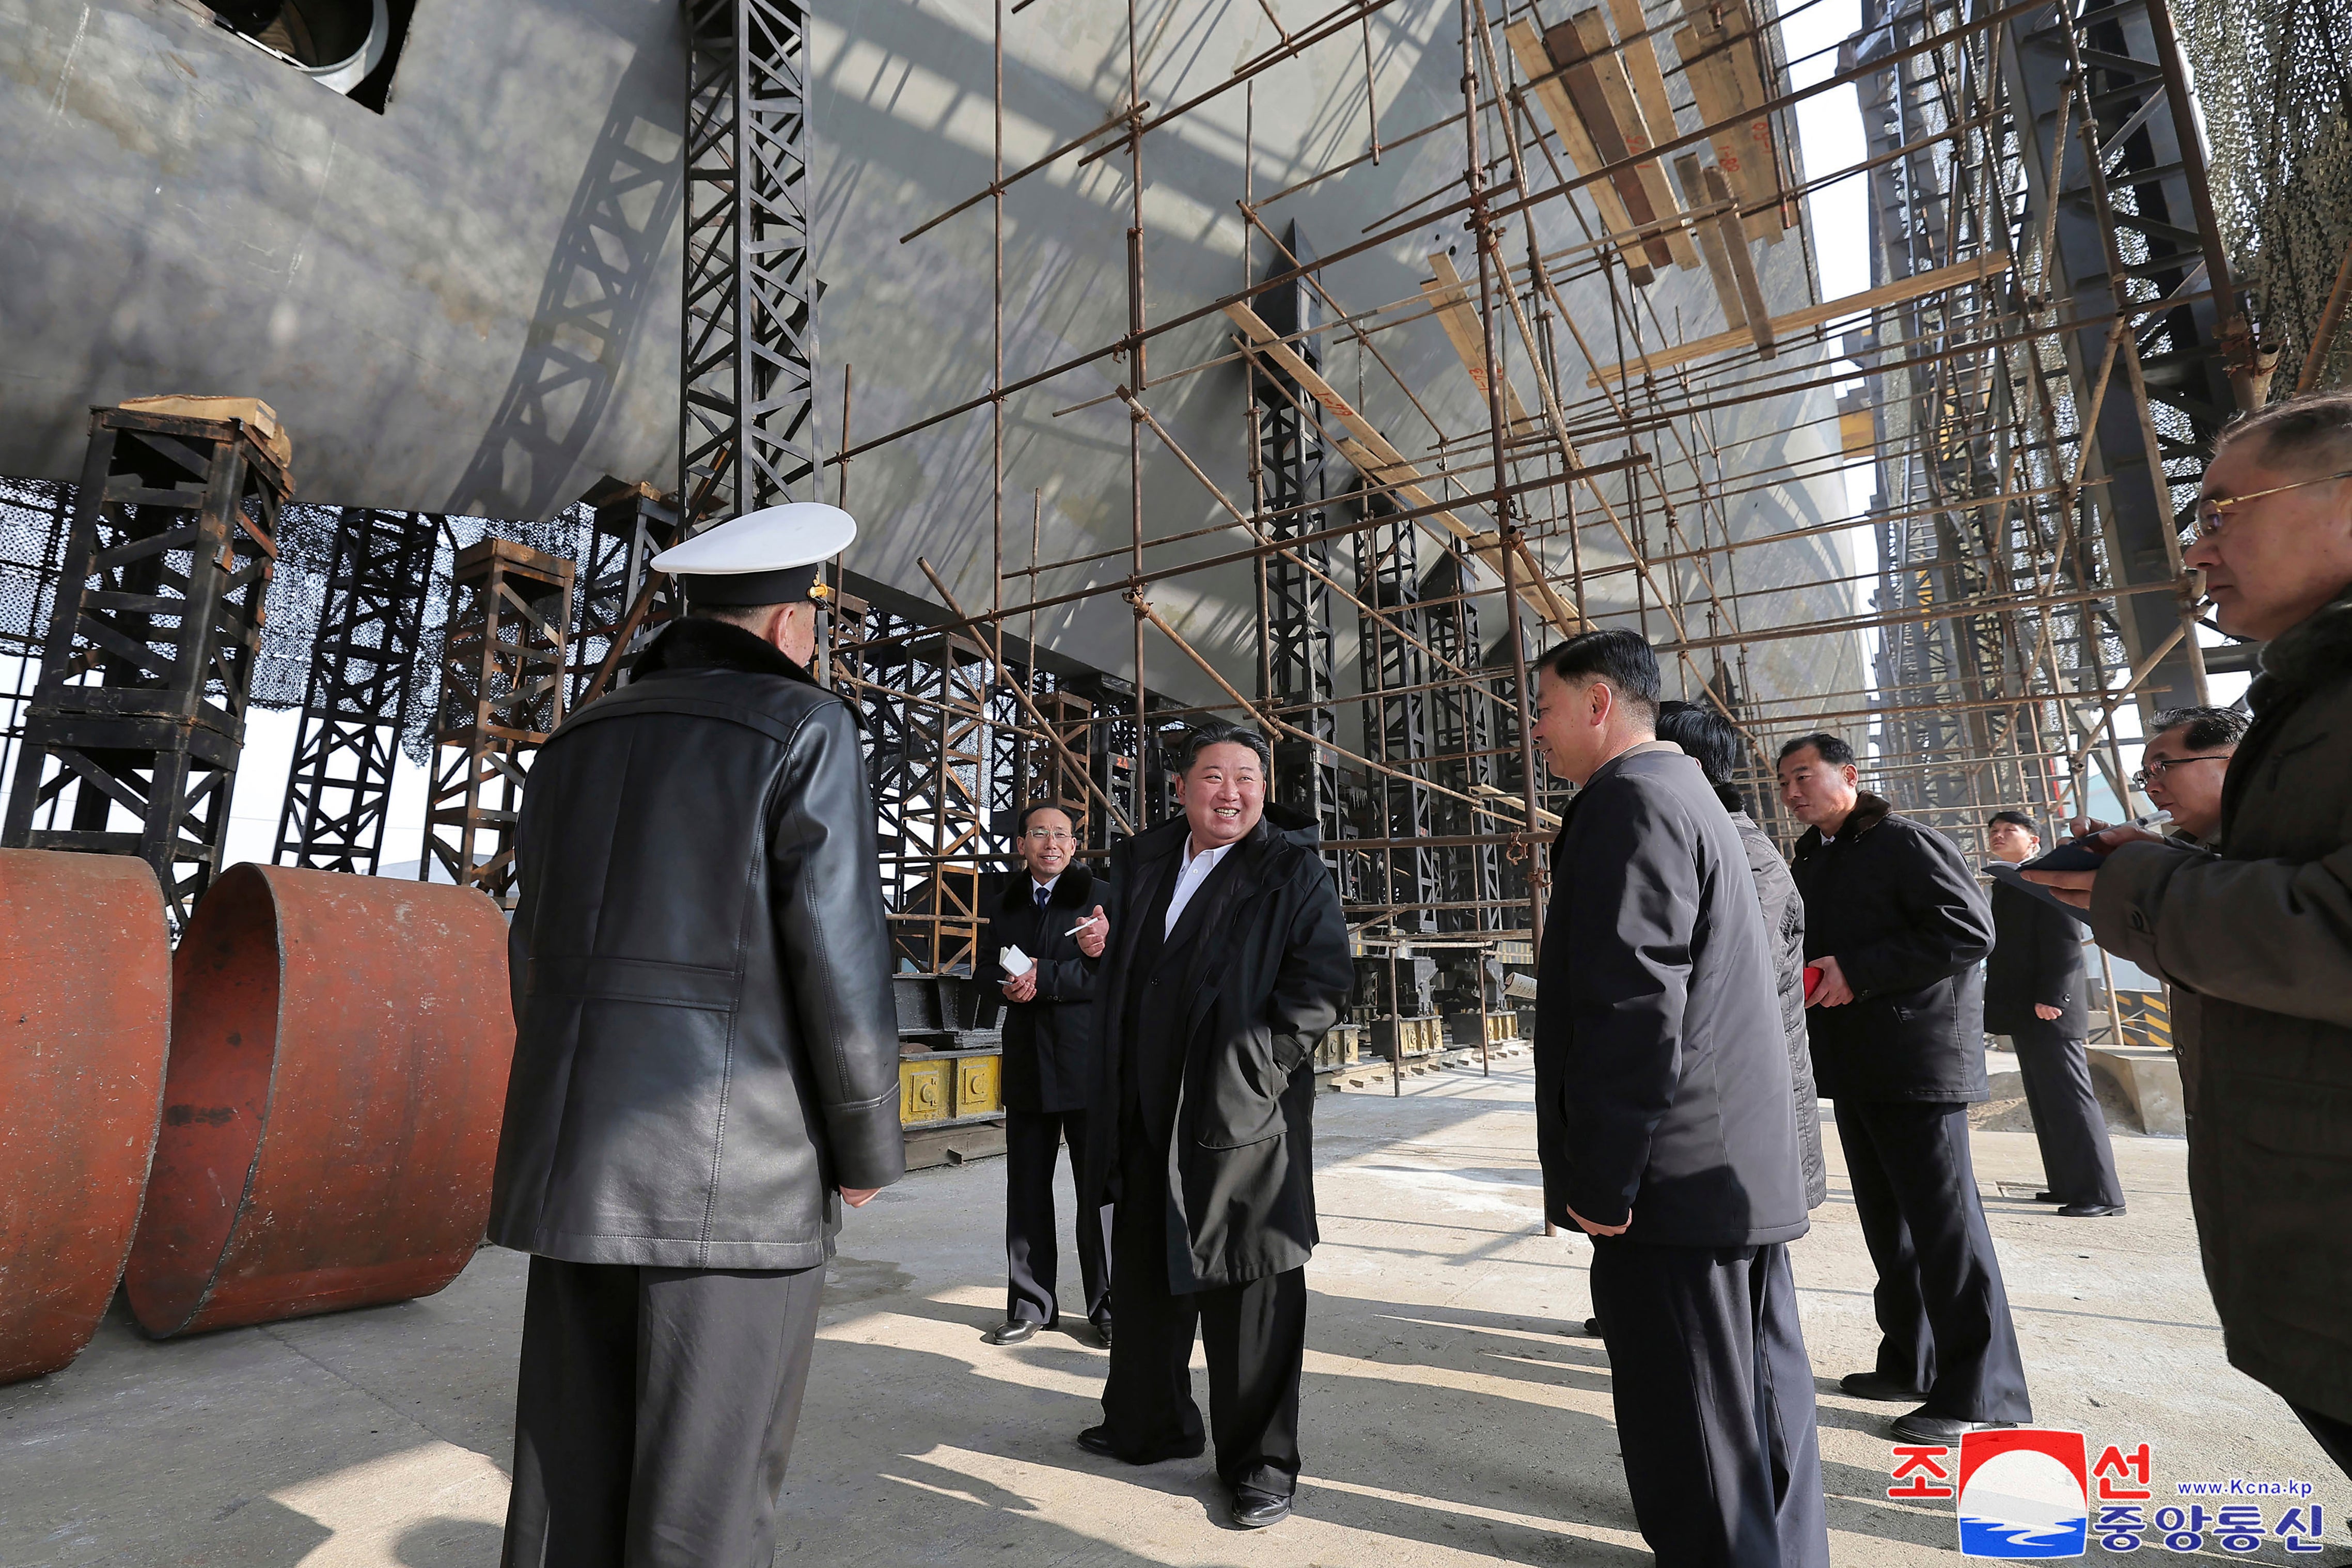
POLYGON ((2002 1262, 1976 1194, 1969 1107, 1837 1100, 1853 1213, 1879 1269, 1879 1375, 1926 1415, 2032 1420, 2002 1262))

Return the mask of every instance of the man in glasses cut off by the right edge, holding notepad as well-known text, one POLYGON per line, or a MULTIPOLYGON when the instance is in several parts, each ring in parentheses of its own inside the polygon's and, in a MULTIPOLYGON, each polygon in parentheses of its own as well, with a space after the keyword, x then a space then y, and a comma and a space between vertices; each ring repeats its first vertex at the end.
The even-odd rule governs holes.
POLYGON ((2096 872, 2027 872, 2173 985, 2190 1201, 2230 1363, 2352 1472, 2352 397, 2232 425, 2187 564, 2258 637, 2220 853, 2133 827, 2096 872))

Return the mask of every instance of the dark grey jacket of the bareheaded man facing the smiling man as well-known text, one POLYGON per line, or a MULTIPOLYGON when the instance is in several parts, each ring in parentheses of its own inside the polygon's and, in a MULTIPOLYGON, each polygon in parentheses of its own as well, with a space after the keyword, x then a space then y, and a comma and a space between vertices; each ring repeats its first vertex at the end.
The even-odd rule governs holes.
POLYGON ((1738 827, 1665 741, 1613 757, 1552 842, 1536 969, 1545 1213, 1628 1241, 1762 1246, 1809 1227, 1788 1037, 1738 827))

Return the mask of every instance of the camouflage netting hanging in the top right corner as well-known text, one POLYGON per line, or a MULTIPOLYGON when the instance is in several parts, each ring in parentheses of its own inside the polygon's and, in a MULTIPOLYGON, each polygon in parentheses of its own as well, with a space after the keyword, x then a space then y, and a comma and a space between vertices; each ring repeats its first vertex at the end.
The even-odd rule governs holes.
MULTIPOLYGON (((2352 244, 2352 7, 2336 0, 2176 0, 2211 141, 2213 209, 2279 350, 2272 397, 2303 374, 2352 244)), ((2352 322, 2314 386, 2352 383, 2352 322)))

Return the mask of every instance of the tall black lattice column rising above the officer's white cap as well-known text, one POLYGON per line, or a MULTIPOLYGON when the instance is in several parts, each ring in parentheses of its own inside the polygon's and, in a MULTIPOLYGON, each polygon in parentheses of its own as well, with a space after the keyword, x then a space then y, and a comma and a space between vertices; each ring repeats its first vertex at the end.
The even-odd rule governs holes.
POLYGON ((807 110, 804 5, 687 0, 677 470, 699 520, 818 498, 807 110))

